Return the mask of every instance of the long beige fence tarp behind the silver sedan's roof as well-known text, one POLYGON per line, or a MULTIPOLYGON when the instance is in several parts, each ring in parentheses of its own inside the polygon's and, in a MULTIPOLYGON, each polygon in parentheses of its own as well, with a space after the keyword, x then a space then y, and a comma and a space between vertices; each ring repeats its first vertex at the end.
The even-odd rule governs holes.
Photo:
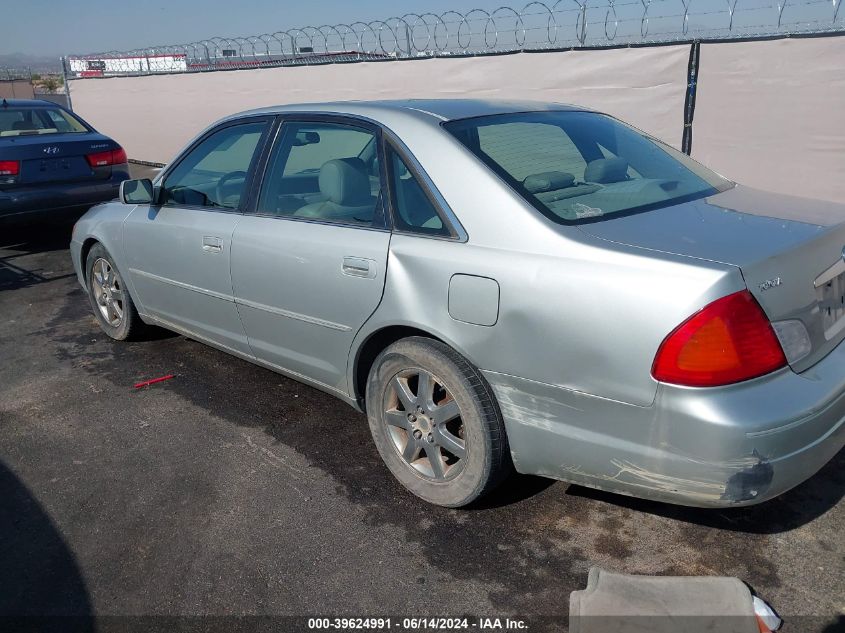
POLYGON ((167 162, 216 119, 274 104, 487 97, 577 103, 680 147, 689 46, 359 62, 70 82, 74 109, 136 160, 167 162))

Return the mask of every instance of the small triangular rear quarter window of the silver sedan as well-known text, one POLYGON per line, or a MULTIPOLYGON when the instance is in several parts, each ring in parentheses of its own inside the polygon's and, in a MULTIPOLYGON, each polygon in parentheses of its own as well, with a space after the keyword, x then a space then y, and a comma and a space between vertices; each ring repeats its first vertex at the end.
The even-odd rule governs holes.
POLYGON ((390 164, 393 221, 396 228, 423 235, 449 235, 449 228, 419 180, 391 146, 387 149, 387 160, 390 164))

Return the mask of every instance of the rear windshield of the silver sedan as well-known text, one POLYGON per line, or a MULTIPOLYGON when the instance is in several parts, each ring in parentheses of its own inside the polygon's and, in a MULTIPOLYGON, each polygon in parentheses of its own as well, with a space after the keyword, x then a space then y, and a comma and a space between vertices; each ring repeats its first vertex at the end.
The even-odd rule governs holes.
POLYGON ((670 206, 733 186, 686 154, 594 112, 526 112, 444 127, 562 224, 670 206))

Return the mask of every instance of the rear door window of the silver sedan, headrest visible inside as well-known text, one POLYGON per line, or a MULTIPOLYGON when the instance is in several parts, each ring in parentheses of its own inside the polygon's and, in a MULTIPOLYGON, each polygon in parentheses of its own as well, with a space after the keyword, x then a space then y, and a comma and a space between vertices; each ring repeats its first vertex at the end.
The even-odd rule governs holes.
POLYGON ((285 123, 264 175, 258 213, 348 224, 379 220, 376 136, 338 123, 285 123))

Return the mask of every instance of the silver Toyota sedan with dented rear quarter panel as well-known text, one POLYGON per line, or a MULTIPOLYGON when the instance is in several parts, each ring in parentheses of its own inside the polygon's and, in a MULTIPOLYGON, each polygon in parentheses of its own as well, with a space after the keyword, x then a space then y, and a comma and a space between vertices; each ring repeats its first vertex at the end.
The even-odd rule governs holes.
POLYGON ((845 443, 843 219, 575 107, 329 103, 215 123, 71 252, 109 336, 346 401, 431 503, 515 468, 726 506, 845 443))

